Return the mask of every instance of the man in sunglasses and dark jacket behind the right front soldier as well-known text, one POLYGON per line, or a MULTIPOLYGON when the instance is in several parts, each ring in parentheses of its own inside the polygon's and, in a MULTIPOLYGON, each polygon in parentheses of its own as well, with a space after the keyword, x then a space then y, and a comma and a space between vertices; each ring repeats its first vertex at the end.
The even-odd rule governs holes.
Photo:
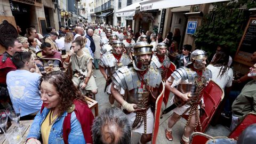
POLYGON ((190 52, 191 52, 192 46, 189 44, 186 44, 182 48, 182 53, 178 54, 176 58, 174 59, 173 63, 174 65, 179 68, 183 66, 188 66, 188 63, 190 62, 190 52))

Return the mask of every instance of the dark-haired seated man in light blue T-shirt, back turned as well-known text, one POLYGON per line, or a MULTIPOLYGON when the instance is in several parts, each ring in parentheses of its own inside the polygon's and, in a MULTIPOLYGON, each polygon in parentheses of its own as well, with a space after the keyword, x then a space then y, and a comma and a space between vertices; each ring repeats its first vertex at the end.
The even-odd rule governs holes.
POLYGON ((12 104, 21 109, 21 117, 26 116, 28 119, 33 119, 42 106, 38 91, 40 71, 35 65, 35 59, 31 52, 16 52, 12 61, 18 68, 15 71, 10 71, 6 76, 12 104), (30 71, 35 72, 31 73, 30 71))

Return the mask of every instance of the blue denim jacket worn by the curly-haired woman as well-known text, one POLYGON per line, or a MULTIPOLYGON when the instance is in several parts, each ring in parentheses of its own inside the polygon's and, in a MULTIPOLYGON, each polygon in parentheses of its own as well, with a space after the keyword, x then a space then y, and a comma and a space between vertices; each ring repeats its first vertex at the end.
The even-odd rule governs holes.
MULTIPOLYGON (((36 115, 32 125, 30 126, 30 131, 27 138, 36 138, 39 139, 41 137, 41 125, 44 122, 47 114, 49 113, 50 109, 44 108, 42 113, 38 112, 36 115)), ((64 114, 59 116, 56 121, 53 123, 51 127, 51 132, 49 134, 49 141, 48 143, 64 143, 63 140, 63 121, 64 118, 67 116, 67 111, 64 114)), ((73 111, 71 113, 70 119, 70 133, 68 135, 68 143, 85 143, 84 134, 81 128, 81 124, 79 123, 78 119, 76 118, 76 114, 73 111)))

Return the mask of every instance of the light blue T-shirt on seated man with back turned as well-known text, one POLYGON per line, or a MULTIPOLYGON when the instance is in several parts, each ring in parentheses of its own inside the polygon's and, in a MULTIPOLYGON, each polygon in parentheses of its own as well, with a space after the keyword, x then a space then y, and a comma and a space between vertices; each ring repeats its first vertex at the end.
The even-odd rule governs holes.
POLYGON ((14 107, 20 107, 21 117, 39 111, 42 100, 38 90, 40 75, 28 70, 10 71, 6 76, 7 89, 14 107))

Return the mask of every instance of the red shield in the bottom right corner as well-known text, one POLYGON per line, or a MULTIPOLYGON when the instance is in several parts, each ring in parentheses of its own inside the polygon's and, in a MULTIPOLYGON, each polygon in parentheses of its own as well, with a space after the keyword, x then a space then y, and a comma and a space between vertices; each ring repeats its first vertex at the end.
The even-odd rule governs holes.
POLYGON ((249 113, 245 116, 243 121, 239 123, 236 128, 229 134, 229 138, 238 140, 238 136, 251 124, 256 123, 256 114, 249 113))

